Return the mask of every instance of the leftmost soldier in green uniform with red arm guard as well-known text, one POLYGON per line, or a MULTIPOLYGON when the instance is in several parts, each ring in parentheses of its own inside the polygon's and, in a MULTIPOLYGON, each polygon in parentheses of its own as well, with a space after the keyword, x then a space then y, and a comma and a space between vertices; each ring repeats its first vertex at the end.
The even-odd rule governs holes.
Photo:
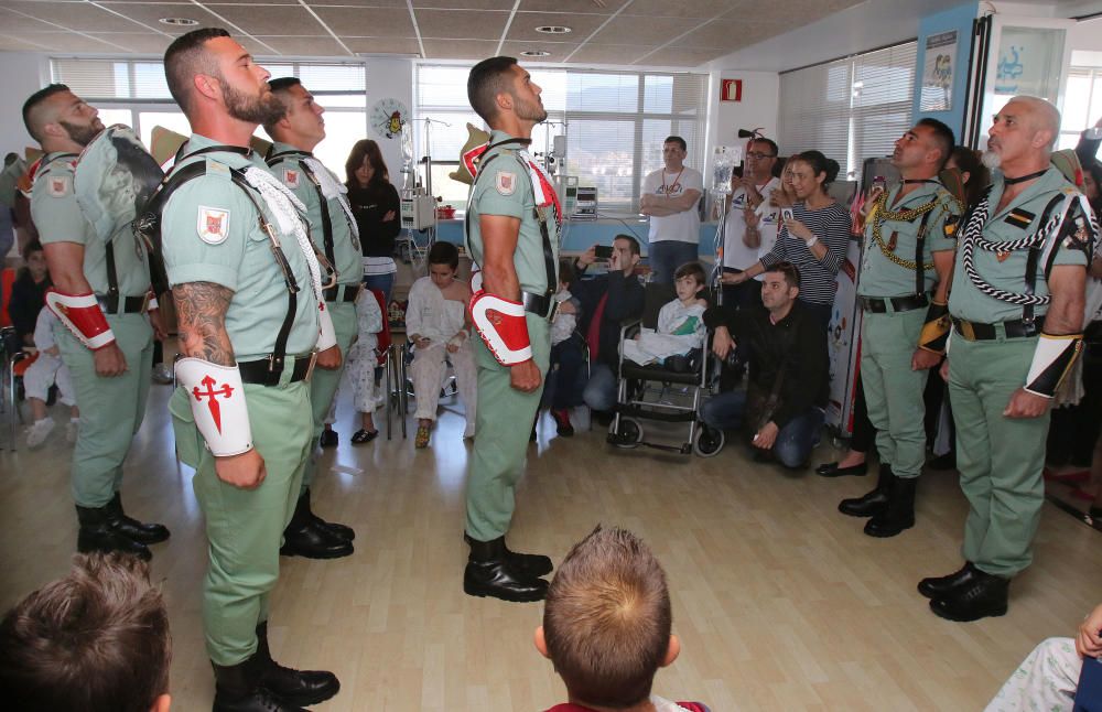
POLYGON ((31 215, 50 263, 47 304, 67 328, 57 346, 73 374, 80 423, 73 451, 73 498, 82 552, 119 550, 149 559, 147 544, 164 541, 162 525, 122 510, 122 463, 145 414, 153 336, 163 338, 150 295, 145 246, 129 230, 102 239, 74 193, 77 154, 104 129, 98 111, 62 84, 23 105, 28 132, 45 151, 31 197, 31 215))

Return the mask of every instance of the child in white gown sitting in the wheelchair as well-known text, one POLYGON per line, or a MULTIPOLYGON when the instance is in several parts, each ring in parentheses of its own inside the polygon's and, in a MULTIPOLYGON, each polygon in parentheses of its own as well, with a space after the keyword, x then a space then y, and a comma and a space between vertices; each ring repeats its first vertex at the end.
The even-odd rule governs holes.
POLYGON ((706 280, 700 262, 688 262, 673 276, 677 299, 658 312, 658 327, 644 328, 624 343, 624 358, 640 366, 661 364, 670 370, 693 370, 704 347, 704 310, 707 301, 700 291, 706 280))

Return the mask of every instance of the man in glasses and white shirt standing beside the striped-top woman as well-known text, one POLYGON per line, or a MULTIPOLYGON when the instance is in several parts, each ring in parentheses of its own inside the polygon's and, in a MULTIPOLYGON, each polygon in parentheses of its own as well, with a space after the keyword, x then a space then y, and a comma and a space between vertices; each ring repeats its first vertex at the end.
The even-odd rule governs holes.
MULTIPOLYGON (((723 271, 741 272, 756 263, 777 241, 779 208, 769 204, 780 179, 774 177, 777 144, 756 138, 746 149, 742 177, 731 180, 731 206, 723 228, 723 271)), ((761 274, 723 288, 723 303, 738 308, 761 303, 761 274)))

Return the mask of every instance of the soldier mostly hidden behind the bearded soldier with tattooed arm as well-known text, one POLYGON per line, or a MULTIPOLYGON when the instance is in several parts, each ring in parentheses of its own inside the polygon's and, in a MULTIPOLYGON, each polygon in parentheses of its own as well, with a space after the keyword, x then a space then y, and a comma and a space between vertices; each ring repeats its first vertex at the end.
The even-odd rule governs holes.
POLYGON ((325 109, 314 103, 314 97, 294 77, 272 79, 268 84, 285 109, 278 121, 264 125, 264 130, 274 141, 268 153, 268 165, 276 177, 306 206, 311 238, 336 271, 336 284, 325 290, 325 309, 333 320, 342 356, 337 368, 321 368, 310 379, 314 446, 302 477, 294 516, 283 532, 280 553, 335 559, 353 552, 352 540, 356 533, 350 527, 325 521, 311 511, 310 485, 317 471, 321 454, 318 441, 325 429, 325 417, 344 373, 344 356, 356 338, 356 296, 364 276, 363 252, 356 219, 345 198, 348 188, 311 153, 325 138, 325 121, 322 119, 325 109))

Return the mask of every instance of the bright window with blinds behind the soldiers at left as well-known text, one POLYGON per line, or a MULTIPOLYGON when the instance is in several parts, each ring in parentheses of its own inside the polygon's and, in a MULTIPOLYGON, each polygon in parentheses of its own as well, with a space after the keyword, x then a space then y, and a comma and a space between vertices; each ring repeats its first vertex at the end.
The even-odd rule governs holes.
MULTIPOLYGON (((367 136, 367 71, 363 63, 259 62, 273 77, 302 80, 317 104, 325 107, 327 138, 314 154, 344 177, 344 163, 353 144, 367 136)), ((150 145, 153 128, 190 133, 187 119, 169 94, 164 63, 160 60, 55 57, 50 62, 53 82, 99 109, 104 123, 126 123, 150 145)), ((262 128, 257 136, 268 140, 262 128)))

